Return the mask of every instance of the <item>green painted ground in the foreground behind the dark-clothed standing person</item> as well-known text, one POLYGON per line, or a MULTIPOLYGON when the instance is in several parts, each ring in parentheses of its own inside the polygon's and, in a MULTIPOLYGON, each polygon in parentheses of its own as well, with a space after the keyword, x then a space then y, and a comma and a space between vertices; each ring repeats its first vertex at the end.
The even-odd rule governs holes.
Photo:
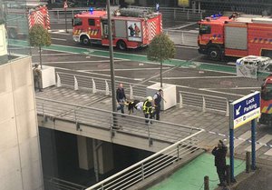
MULTIPOLYGON (((235 175, 240 174, 246 168, 244 161, 235 160, 235 175)), ((210 154, 200 155, 189 162, 188 165, 180 168, 169 178, 163 180, 158 185, 154 185, 148 190, 200 190, 204 189, 204 176, 209 176, 209 189, 215 189, 218 184, 218 175, 214 166, 214 156, 210 154)))

